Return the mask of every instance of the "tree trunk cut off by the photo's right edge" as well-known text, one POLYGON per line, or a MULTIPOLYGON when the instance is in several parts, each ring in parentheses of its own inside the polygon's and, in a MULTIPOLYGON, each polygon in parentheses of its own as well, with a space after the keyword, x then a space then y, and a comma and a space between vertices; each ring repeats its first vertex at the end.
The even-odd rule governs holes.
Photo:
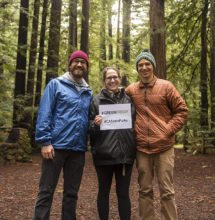
MULTIPOLYGON (((210 90, 211 90, 211 127, 215 128, 215 0, 211 0, 210 12, 210 90)), ((213 131, 215 133, 215 131, 213 131)))

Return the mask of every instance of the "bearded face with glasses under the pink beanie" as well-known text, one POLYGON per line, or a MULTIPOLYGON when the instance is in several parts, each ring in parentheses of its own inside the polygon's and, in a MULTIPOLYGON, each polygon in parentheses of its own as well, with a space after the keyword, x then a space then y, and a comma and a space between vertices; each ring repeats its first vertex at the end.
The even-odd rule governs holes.
POLYGON ((82 58, 76 58, 72 60, 70 66, 69 66, 69 71, 71 77, 77 81, 80 82, 82 81, 82 78, 84 77, 85 74, 87 74, 87 62, 86 60, 82 58))

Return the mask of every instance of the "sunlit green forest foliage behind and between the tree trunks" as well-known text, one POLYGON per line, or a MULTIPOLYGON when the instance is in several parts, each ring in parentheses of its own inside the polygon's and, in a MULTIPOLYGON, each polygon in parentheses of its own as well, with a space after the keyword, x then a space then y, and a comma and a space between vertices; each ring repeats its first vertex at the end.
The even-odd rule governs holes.
MULTIPOLYGON (((0 125, 11 125, 13 109, 13 88, 16 66, 16 49, 18 39, 19 1, 5 0, 0 3, 0 125), (1 66, 1 63, 3 66, 1 66), (3 67, 3 68, 2 68, 3 67), (1 72, 2 70, 2 72, 1 72)), ((33 1, 30 1, 33 3, 33 1)), ((112 5, 113 37, 108 37, 108 31, 103 36, 106 43, 108 57, 108 42, 113 44, 113 59, 100 60, 100 24, 102 16, 101 1, 90 1, 90 27, 89 27, 89 84, 94 94, 100 92, 103 87, 99 63, 105 66, 116 66, 122 76, 126 76, 129 83, 137 81, 138 74, 135 67, 135 58, 142 49, 149 48, 149 4, 150 0, 132 0, 131 7, 131 35, 130 35, 130 63, 126 64, 122 59, 116 58, 116 35, 118 0, 106 0, 107 7, 112 5)), ((200 68, 201 68, 201 13, 204 1, 199 0, 166 0, 166 59, 167 79, 172 81, 189 107, 189 120, 187 126, 192 134, 202 130, 200 127, 200 68)), ((81 1, 78 1, 78 47, 81 38, 81 1)), ((49 5, 49 9, 50 9, 49 5)), ((69 1, 62 1, 60 54, 58 75, 68 70, 68 36, 69 36, 69 1)), ((40 10, 40 20, 41 20, 40 10)), ((30 7, 29 27, 31 27, 33 7, 30 7)), ((107 19, 107 18, 106 18, 107 19)), ((210 20, 208 21, 209 24, 210 20)), ((40 24, 41 25, 41 24, 40 24)), ((106 24, 107 30, 107 22, 106 24)), ((45 57, 43 81, 47 60, 47 42, 49 17, 47 19, 47 31, 45 42, 45 57)), ((209 39, 209 26, 208 39, 209 39)), ((40 27, 39 27, 40 30, 40 27)), ((30 36, 30 31, 29 31, 30 36)), ((122 3, 120 17, 120 37, 122 36, 122 3)), ((121 39, 120 39, 121 40, 121 39)), ((29 41, 30 42, 30 41, 29 41)), ((120 47, 122 49, 122 42, 120 47)), ((208 49, 209 51, 209 49, 208 49)), ((121 54, 120 54, 121 55, 121 54)), ((209 57, 208 57, 209 60, 209 57)), ((208 62, 209 63, 209 62, 208 62)), ((45 83, 43 83, 44 85, 45 83)), ((209 94, 210 96, 210 94, 209 94)), ((210 100, 210 97, 209 97, 210 100)), ((210 129, 210 128, 209 128, 210 129)), ((183 132, 178 134, 178 140, 182 140, 183 132)))

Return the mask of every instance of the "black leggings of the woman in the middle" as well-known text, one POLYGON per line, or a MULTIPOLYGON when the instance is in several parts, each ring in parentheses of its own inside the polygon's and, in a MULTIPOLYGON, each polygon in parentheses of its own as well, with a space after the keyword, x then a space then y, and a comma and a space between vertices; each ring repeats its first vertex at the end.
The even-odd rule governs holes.
POLYGON ((97 207, 100 220, 108 220, 109 216, 109 194, 111 189, 112 177, 115 174, 116 193, 118 198, 118 210, 121 220, 130 220, 131 204, 129 198, 129 185, 133 165, 125 165, 125 176, 123 176, 123 165, 104 165, 95 166, 99 192, 97 198, 97 207))

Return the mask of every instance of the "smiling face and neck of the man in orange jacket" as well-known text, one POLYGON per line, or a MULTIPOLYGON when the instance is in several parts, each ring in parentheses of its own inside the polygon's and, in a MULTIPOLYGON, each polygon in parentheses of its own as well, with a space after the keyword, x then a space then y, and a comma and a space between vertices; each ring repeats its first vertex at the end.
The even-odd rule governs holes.
POLYGON ((141 81, 143 83, 149 83, 154 76, 153 65, 150 61, 142 59, 137 64, 137 71, 140 74, 141 81))

